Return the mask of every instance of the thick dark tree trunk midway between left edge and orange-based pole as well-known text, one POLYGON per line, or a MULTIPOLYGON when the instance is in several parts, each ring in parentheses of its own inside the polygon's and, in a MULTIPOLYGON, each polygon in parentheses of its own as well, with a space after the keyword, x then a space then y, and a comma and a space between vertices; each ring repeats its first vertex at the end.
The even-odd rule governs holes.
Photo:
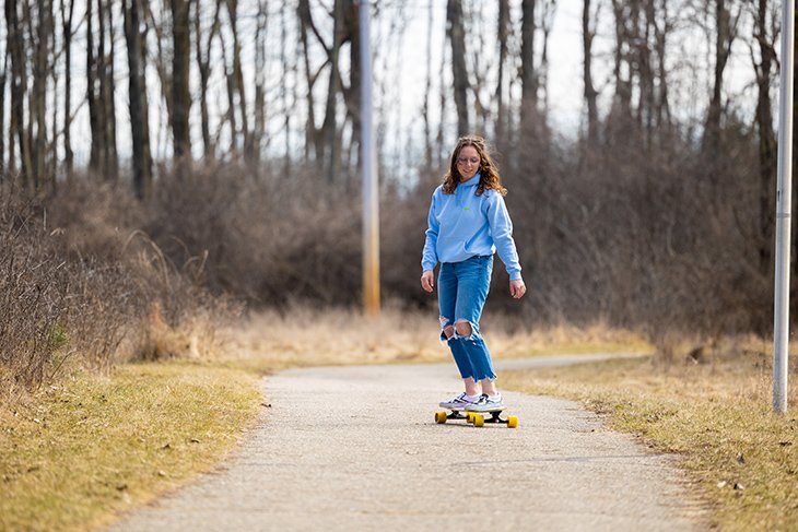
POLYGON ((172 58, 172 134, 174 137, 175 158, 191 158, 191 137, 189 111, 189 0, 171 0, 173 21, 174 54, 172 58))

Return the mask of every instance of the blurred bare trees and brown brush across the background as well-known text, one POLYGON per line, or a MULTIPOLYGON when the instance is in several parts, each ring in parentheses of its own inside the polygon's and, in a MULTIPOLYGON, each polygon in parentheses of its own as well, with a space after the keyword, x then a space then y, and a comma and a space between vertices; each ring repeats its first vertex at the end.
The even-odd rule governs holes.
MULTIPOLYGON (((478 133, 509 189, 529 285, 512 302, 494 269, 489 304, 514 323, 605 320, 655 342, 770 334, 779 3, 583 0, 571 134, 551 119, 561 3, 369 2, 385 298, 434 306, 418 281, 430 197, 456 138, 478 133), (421 42, 407 32, 419 19, 421 42), (412 64, 399 62, 408 47, 412 64), (409 81, 425 87, 418 108, 402 104, 409 81)), ((58 240, 47 261, 84 265, 121 260, 145 235, 136 249, 160 272, 212 294, 356 305, 359 9, 5 0, 7 235, 45 235, 58 240)), ((168 299, 145 294, 134 312, 168 299)))

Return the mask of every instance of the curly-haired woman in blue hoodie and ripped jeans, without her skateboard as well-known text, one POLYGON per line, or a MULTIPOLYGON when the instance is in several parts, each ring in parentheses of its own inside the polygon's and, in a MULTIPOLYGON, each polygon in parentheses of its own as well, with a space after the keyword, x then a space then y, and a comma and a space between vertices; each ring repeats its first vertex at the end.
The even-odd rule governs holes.
POLYGON ((421 259, 421 286, 426 292, 433 291, 433 270, 441 262, 441 340, 448 343, 466 388, 443 401, 444 409, 486 412, 504 407, 479 320, 491 284, 494 252, 498 251, 509 274, 511 295, 517 299, 527 289, 513 240, 513 222, 504 204, 506 193, 485 141, 480 137, 458 139, 444 182, 432 194, 421 259))

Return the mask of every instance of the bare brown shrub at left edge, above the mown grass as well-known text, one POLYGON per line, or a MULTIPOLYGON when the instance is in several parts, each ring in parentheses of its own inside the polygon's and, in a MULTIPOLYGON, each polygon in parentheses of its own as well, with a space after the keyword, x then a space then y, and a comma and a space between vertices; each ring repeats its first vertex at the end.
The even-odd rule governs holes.
POLYGON ((119 359, 219 348, 215 328, 238 307, 202 286, 202 257, 175 265, 136 228, 149 214, 124 189, 74 178, 50 197, 27 198, 3 187, 0 204, 7 398, 51 381, 70 358, 106 370, 119 359), (153 307, 171 335, 150 330, 153 307))

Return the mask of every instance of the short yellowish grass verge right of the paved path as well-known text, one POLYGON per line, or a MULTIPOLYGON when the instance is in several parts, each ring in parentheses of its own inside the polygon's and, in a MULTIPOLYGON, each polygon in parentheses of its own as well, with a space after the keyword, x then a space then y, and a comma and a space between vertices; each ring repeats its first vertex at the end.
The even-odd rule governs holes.
MULTIPOLYGON (((766 357, 654 368, 622 359, 505 374, 503 386, 584 402, 610 427, 679 453, 720 530, 798 530, 798 419, 771 410, 766 357)), ((798 393, 793 387, 790 403, 798 393)))

